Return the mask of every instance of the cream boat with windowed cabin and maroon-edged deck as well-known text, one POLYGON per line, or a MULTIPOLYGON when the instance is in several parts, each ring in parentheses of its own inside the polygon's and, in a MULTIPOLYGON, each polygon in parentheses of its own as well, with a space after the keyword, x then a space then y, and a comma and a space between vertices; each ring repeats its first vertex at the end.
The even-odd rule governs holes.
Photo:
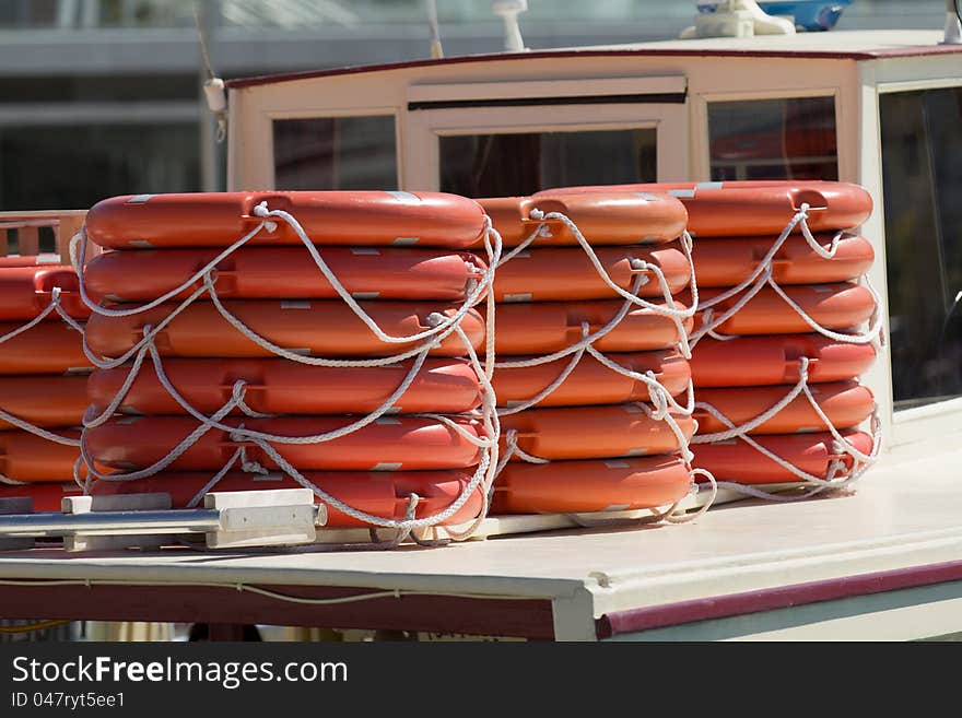
POLYGON ((887 320, 863 382, 885 455, 857 491, 400 555, 7 552, 7 613, 556 640, 962 635, 962 45, 941 39, 812 32, 228 83, 230 190, 865 187, 887 320))

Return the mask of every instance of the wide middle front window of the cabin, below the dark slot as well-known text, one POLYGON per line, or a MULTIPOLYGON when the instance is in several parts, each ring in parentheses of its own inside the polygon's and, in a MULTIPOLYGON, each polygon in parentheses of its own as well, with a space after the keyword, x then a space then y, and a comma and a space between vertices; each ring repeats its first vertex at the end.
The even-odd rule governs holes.
POLYGON ((656 181, 654 128, 439 138, 441 189, 466 197, 656 181))

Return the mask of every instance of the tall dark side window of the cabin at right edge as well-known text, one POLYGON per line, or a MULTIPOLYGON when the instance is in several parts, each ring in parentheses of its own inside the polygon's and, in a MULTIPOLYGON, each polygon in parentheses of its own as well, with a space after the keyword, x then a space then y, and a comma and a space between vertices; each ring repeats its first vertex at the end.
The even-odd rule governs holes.
POLYGON ((879 97, 895 409, 962 396, 962 87, 879 97))

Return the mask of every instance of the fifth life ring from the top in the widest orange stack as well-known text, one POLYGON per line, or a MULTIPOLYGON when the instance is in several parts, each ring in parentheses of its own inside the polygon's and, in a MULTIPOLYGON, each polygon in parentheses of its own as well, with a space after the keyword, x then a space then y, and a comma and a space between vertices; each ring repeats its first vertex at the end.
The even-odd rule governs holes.
MULTIPOLYGON (((313 436, 353 423, 351 416, 232 417, 228 426, 281 436, 313 436)), ((469 434, 482 436, 480 424, 454 417, 469 434)), ((89 428, 84 442, 91 457, 114 469, 141 469, 163 459, 198 423, 189 416, 114 417, 89 428)), ((250 442, 233 442, 228 432, 212 428, 169 466, 173 471, 216 471, 238 447, 268 469, 274 462, 250 442)), ((347 436, 320 444, 273 444, 291 466, 315 471, 395 471, 465 469, 478 463, 478 447, 438 421, 418 416, 383 416, 347 436)))

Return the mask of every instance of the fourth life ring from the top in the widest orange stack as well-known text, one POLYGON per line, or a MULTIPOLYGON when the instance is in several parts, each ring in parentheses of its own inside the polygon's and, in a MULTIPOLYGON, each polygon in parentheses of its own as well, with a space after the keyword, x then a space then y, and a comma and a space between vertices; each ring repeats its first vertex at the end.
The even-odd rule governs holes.
MULTIPOLYGON (((234 384, 242 379, 246 382, 244 402, 256 412, 366 414, 394 393, 412 364, 413 360, 408 360, 388 366, 355 368, 310 366, 278 358, 171 358, 164 362, 164 373, 177 392, 206 414, 223 407, 231 399, 234 384)), ((129 366, 120 366, 96 369, 91 375, 87 391, 98 413, 114 400, 129 370, 129 366)), ((467 362, 429 358, 391 413, 458 414, 477 408, 480 402, 478 377, 467 362)), ((117 411, 185 413, 150 363, 141 367, 117 411)))

